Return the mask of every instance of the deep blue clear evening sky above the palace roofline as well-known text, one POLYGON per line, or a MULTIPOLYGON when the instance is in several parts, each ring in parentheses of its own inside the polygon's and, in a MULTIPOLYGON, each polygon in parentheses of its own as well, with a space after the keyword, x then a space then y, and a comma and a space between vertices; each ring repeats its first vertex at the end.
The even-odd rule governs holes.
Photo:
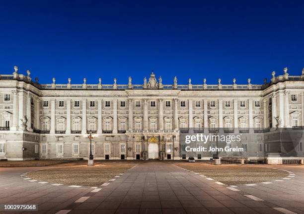
POLYGON ((40 83, 262 83, 301 75, 304 1, 13 1, 0 4, 0 73, 40 83), (186 3, 187 2, 187 3, 186 3))

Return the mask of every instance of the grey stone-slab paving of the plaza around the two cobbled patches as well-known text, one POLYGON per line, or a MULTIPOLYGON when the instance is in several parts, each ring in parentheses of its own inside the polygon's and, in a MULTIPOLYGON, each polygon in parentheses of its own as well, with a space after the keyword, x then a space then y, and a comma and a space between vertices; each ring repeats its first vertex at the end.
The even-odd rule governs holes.
POLYGON ((171 161, 134 161, 99 187, 81 187, 26 176, 47 167, 2 167, 0 204, 38 204, 37 212, 23 212, 33 214, 304 214, 304 168, 263 166, 289 176, 233 187, 171 161))

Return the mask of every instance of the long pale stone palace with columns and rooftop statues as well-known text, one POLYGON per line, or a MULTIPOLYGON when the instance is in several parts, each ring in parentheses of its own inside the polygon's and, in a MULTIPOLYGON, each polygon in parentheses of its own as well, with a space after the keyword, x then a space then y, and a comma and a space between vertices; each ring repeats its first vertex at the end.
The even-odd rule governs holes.
MULTIPOLYGON (((88 158, 185 159, 180 132, 217 129, 247 138, 245 156, 267 157, 261 145, 276 128, 304 127, 304 69, 291 76, 272 72, 264 84, 163 84, 152 72, 143 84, 40 84, 30 71, 0 75, 0 159, 88 158), (251 135, 257 135, 250 138, 251 135), (250 142, 250 139, 252 141, 250 142), (250 148, 250 149, 249 149, 250 148)), ((302 152, 302 142, 297 152, 302 152)), ((231 154, 225 153, 222 156, 231 154)), ((232 154, 233 155, 233 154, 232 154)), ((244 155, 244 154, 242 154, 244 155)), ((210 152, 195 154, 209 159, 210 152)), ((237 156, 237 155, 234 155, 237 156)))

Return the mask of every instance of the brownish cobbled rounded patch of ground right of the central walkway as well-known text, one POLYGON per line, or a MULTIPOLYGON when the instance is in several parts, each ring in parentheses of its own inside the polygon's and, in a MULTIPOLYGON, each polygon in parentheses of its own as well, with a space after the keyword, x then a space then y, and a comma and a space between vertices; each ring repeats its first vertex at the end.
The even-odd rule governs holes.
MULTIPOLYGON (((286 171, 257 165, 211 165, 202 162, 175 162, 174 164, 206 175, 227 185, 260 183, 281 179, 289 175, 286 171)), ((275 168, 275 166, 273 167, 275 168)))

